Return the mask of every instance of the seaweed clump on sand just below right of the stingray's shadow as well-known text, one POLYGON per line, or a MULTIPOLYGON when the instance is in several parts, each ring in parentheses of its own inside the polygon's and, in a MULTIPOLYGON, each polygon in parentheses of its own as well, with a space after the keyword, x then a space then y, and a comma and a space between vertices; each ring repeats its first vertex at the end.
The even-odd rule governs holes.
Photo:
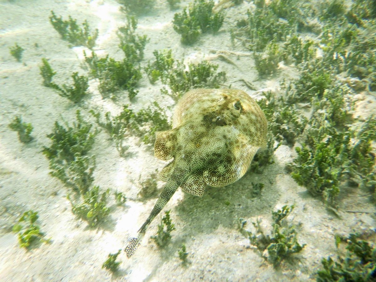
POLYGON ((261 221, 257 220, 256 223, 252 223, 256 229, 256 232, 252 233, 244 229, 247 221, 239 218, 240 232, 249 238, 250 243, 257 247, 262 257, 273 264, 274 267, 278 267, 282 260, 290 257, 293 253, 299 253, 306 245, 299 244, 296 226, 287 223, 284 219, 293 209, 294 205, 285 205, 282 209, 272 212, 273 223, 271 224, 272 230, 270 235, 265 235, 262 231, 260 227, 261 221), (265 250, 267 251, 266 254, 265 250))

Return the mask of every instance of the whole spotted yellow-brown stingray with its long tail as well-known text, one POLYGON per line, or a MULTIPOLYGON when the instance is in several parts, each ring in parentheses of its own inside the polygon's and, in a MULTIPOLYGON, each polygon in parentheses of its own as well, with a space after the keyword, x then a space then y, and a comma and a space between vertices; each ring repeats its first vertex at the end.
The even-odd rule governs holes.
POLYGON ((255 100, 237 89, 193 89, 178 101, 172 129, 156 133, 154 153, 172 161, 159 173, 166 184, 125 252, 135 253, 147 227, 177 188, 202 196, 205 186, 240 179, 259 148, 266 146, 267 121, 255 100))

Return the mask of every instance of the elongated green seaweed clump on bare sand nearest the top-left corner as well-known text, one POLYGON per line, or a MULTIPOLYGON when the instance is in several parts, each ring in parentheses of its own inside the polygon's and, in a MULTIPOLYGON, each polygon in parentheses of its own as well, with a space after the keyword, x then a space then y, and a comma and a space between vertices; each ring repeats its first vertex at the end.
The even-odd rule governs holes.
POLYGON ((61 16, 57 17, 51 11, 50 23, 63 40, 68 41, 73 46, 86 46, 92 49, 98 38, 99 30, 95 29, 94 33, 90 33, 89 24, 86 20, 82 23, 82 27, 80 27, 76 19, 73 19, 71 16, 68 16, 68 18, 69 20, 64 21, 61 16))

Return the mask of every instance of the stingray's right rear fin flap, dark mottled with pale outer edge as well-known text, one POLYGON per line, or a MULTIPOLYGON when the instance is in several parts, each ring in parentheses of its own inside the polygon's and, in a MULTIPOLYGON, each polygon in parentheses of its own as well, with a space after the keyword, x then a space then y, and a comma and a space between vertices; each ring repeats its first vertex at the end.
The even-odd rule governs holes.
POLYGON ((203 171, 205 183, 223 187, 240 179, 248 170, 259 147, 244 146, 229 151, 220 161, 203 171))

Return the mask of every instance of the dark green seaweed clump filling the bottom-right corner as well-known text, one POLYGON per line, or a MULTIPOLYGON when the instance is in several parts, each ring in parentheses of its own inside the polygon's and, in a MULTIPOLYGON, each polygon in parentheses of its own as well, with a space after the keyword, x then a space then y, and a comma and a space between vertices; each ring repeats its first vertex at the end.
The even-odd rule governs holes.
MULTIPOLYGON (((344 238, 335 236, 338 249, 341 242, 346 244, 346 254, 334 260, 330 256, 322 258, 322 268, 316 273, 317 282, 334 281, 374 281, 376 279, 376 249, 374 244, 359 240, 359 235, 351 233, 344 238)), ((340 250, 338 249, 339 253, 340 250)))

